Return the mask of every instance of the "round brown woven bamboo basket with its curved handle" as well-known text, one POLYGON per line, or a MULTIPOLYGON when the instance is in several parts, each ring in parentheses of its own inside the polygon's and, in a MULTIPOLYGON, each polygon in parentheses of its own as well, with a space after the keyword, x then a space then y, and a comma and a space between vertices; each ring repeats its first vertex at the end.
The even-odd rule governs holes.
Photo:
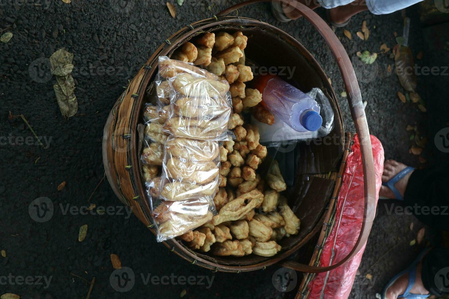
MULTIPOLYGON (((307 49, 284 31, 265 22, 229 16, 229 13, 235 9, 262 1, 267 0, 242 2, 212 18, 190 24, 165 40, 154 52, 128 84, 126 90, 119 96, 106 121, 103 135, 103 161, 106 176, 117 197, 123 204, 131 207, 136 217, 154 234, 150 205, 141 178, 139 157, 143 127, 139 123, 142 122, 142 107, 147 97, 154 91, 152 82, 158 70, 158 56, 171 56, 176 48, 184 42, 204 32, 242 31, 244 35, 248 36, 245 53, 251 60, 268 66, 296 66, 301 69, 294 75, 294 79, 299 82, 300 88, 303 90, 309 90, 312 87, 321 88, 330 99, 335 114, 334 129, 330 134, 339 137, 340 140, 345 140, 345 142, 327 145, 301 144, 295 148, 295 155, 299 156, 300 159, 298 168, 295 170, 295 184, 287 190, 286 197, 290 206, 294 207, 295 214, 301 219, 301 229, 299 234, 281 240, 282 251, 277 255, 272 257, 254 255, 218 257, 191 251, 176 239, 165 241, 163 244, 189 263, 197 264, 214 272, 240 273, 242 271, 265 269, 275 263, 301 272, 324 272, 343 264, 361 249, 370 233, 372 221, 364 222, 361 234, 352 252, 339 263, 329 267, 314 267, 312 263, 311 265, 299 264, 288 259, 289 256, 310 242, 320 232, 320 242, 326 236, 326 234, 323 234, 323 230, 325 231, 328 226, 326 221, 329 221, 329 215, 332 214, 332 211, 335 211, 335 199, 341 186, 339 173, 342 172, 342 167, 344 169, 345 157, 348 154, 348 136, 345 137, 343 133, 342 115, 330 82, 307 49), (261 49, 264 50, 261 51, 261 49), (279 55, 280 53, 282 55, 279 55)), ((374 206, 374 163, 357 78, 346 51, 330 27, 303 4, 296 2, 291 5, 319 31, 339 65, 348 95, 352 119, 361 140, 365 175, 365 217, 370 219, 374 217, 373 213, 370 213, 367 208, 374 206)), ((308 260, 311 260, 311 258, 308 260)), ((316 256, 312 256, 312 260, 316 260, 316 256)))

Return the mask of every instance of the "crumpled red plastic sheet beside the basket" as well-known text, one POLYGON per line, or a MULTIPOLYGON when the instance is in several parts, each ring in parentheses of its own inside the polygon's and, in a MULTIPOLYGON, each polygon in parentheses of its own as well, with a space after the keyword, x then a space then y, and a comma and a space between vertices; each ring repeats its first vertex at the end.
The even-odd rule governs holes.
MULTIPOLYGON (((383 147, 379 139, 371 137, 374 156, 374 171, 376 179, 376 203, 379 199, 379 190, 382 185, 383 147)), ((337 202, 336 222, 323 247, 320 266, 329 266, 342 260, 349 254, 357 242, 363 222, 364 210, 364 183, 363 168, 360 152, 360 143, 357 134, 348 156, 347 167, 343 173, 343 184, 337 202), (343 214, 342 214, 343 210, 343 214), (342 217, 340 218, 340 215, 342 217), (334 249, 334 257, 332 257, 334 249)), ((345 299, 351 293, 352 284, 365 251, 363 249, 351 260, 329 272, 318 273, 309 282, 310 299, 345 299)))

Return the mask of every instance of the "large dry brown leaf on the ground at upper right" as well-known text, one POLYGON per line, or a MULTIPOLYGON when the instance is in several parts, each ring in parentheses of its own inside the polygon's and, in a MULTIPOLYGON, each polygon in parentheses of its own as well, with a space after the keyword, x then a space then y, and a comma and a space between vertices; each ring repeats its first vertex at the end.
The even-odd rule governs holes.
POLYGON ((409 47, 401 46, 395 56, 395 72, 406 91, 415 92, 416 74, 414 69, 414 59, 412 50, 409 47))

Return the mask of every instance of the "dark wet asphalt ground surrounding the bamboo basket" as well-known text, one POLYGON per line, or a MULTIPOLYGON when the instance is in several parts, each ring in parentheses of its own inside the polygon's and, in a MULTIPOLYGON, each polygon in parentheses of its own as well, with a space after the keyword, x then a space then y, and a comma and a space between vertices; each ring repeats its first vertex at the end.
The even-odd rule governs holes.
MULTIPOLYGON (((210 3, 185 0, 177 7, 172 19, 160 1, 130 1, 128 13, 119 12, 116 1, 72 0, 62 1, 6 1, 0 5, 0 30, 10 27, 13 33, 9 43, 0 43, 0 152, 2 181, 0 182, 0 295, 16 293, 22 298, 85 298, 89 283, 96 277, 91 298, 278 298, 282 293, 272 284, 276 266, 251 273, 211 273, 190 265, 172 254, 141 223, 127 211, 107 182, 97 188, 90 203, 116 207, 105 215, 82 215, 77 208, 88 205, 88 199, 103 178, 101 141, 103 126, 112 104, 154 50, 173 32, 194 21, 211 17, 231 4, 230 1, 210 3), (35 67, 39 58, 49 57, 55 50, 66 47, 75 54, 74 74, 79 110, 75 117, 65 120, 57 107, 53 93, 53 79, 43 73, 36 78, 35 67), (112 67, 105 74, 98 67, 112 67), (34 70, 33 70, 34 69, 34 70), (40 82, 36 82, 40 81, 40 82), (42 82, 44 81, 44 82, 42 82), (43 136, 47 149, 35 142, 23 145, 23 139, 32 136, 21 118, 8 115, 23 114, 35 133, 43 136), (11 136, 11 138, 9 138, 11 136), (22 145, 21 145, 22 143, 22 145), (65 181, 66 187, 57 191, 65 181), (30 203, 39 197, 49 198, 54 205, 53 217, 43 223, 33 221, 28 212, 30 203), (72 212, 67 207, 75 207, 72 212), (87 238, 78 242, 81 225, 88 225, 87 238), (123 266, 135 273, 135 284, 126 293, 115 291, 109 282, 113 271, 110 254, 120 257, 123 266), (194 276, 197 285, 170 282, 151 283, 147 277, 176 275, 194 276), (51 281, 46 287, 35 283, 20 283, 20 277, 44 276, 51 281), (207 279, 199 283, 198 277, 207 279), (3 279, 3 277, 10 277, 3 279), (82 278, 80 278, 82 277, 82 278), (18 279, 16 279, 18 278, 18 279), (88 282, 87 282, 88 281, 88 282), (2 282, 6 282, 3 284, 2 282)), ((324 10, 317 13, 324 16, 324 10)), ((305 20, 287 24, 274 20, 269 4, 257 4, 241 9, 239 15, 269 22, 294 36, 315 56, 330 77, 345 120, 345 129, 354 130, 348 104, 339 94, 342 80, 329 49, 320 35, 305 20)), ((418 19, 416 7, 407 9, 411 17, 410 47, 414 54, 423 51, 423 66, 449 65, 447 49, 440 42, 439 32, 448 32, 448 26, 427 27, 418 19)), ((357 61, 362 50, 379 52, 380 45, 392 48, 394 32, 401 35, 401 13, 374 16, 361 13, 353 17, 347 29, 352 40, 337 29, 348 55, 357 61), (370 38, 362 41, 356 32, 366 20, 370 38), (374 27, 375 26, 375 27, 374 27)), ((4 31, 6 32, 6 31, 4 31)), ((2 32, 3 33, 3 32, 2 32)), ((445 39, 447 41, 447 39, 445 39)), ((447 70, 440 75, 418 76, 418 92, 427 102, 427 113, 416 104, 403 104, 396 95, 403 91, 395 74, 387 74, 387 65, 393 64, 388 55, 379 58, 367 70, 358 71, 362 97, 368 102, 366 113, 371 134, 383 143, 385 158, 394 158, 408 165, 420 166, 418 157, 409 154, 413 144, 405 127, 417 124, 428 137, 423 157, 427 165, 447 161, 433 142, 436 132, 447 127, 447 70), (374 74, 374 75, 373 75, 374 74)), ((442 71, 443 68, 441 68, 442 71)), ((357 65, 356 65, 357 70, 357 65)), ((381 202, 361 261, 360 275, 356 278, 350 298, 374 298, 384 284, 413 260, 423 247, 409 246, 416 232, 423 227, 414 216, 389 214, 392 202, 381 202), (387 206, 385 206, 387 204, 387 206), (410 223, 414 223, 410 230, 410 223), (367 283, 366 274, 373 276, 367 283)), ((427 229, 427 240, 438 240, 438 234, 427 229)), ((170 279, 171 280, 171 279, 170 279)))

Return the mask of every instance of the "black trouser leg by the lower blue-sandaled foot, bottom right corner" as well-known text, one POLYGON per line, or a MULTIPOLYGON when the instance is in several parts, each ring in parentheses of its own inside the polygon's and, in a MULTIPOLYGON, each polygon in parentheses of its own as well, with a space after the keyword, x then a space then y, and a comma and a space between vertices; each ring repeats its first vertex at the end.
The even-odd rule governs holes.
POLYGON ((449 249, 434 248, 424 256, 421 279, 432 295, 449 294, 449 249))

